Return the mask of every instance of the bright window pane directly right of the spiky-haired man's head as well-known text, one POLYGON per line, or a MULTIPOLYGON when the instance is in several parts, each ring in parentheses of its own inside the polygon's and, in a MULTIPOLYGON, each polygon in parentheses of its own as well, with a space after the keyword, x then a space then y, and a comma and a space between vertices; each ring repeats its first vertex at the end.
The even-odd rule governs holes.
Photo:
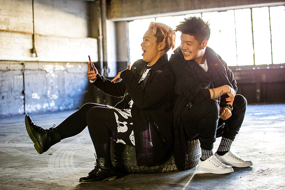
POLYGON ((228 66, 237 66, 234 11, 203 13, 202 18, 210 23, 211 35, 207 46, 228 66))

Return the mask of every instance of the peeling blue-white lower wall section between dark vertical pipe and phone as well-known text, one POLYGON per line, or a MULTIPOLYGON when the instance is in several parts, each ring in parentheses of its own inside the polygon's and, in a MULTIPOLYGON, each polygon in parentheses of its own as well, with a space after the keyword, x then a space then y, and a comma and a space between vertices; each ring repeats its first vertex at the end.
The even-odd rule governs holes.
POLYGON ((88 83, 87 64, 25 64, 25 112, 80 107, 88 83))

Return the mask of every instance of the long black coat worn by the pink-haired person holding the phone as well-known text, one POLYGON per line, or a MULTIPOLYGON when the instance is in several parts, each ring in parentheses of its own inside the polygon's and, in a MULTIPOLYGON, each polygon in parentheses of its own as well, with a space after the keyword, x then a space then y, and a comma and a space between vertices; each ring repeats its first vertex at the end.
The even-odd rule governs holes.
POLYGON ((115 107, 127 109, 133 100, 135 149, 138 166, 157 165, 164 161, 173 147, 174 73, 167 54, 151 66, 144 81, 138 83, 148 63, 137 60, 131 70, 121 73, 121 81, 113 83, 98 75, 92 83, 103 92, 124 97, 115 107))

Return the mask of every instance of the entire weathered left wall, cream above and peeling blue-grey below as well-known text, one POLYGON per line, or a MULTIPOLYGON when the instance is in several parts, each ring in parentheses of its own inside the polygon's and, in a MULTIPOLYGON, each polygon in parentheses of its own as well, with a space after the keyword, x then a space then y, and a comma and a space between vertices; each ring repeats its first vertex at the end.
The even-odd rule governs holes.
POLYGON ((97 102, 88 96, 86 76, 88 55, 98 61, 91 3, 34 0, 33 15, 32 0, 0 0, 0 116, 97 102), (31 54, 33 23, 37 57, 31 54))

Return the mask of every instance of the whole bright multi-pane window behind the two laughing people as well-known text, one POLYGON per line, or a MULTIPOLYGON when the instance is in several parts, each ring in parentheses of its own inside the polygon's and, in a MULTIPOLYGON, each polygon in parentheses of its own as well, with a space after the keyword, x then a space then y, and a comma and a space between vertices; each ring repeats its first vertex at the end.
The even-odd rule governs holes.
MULTIPOLYGON (((285 7, 257 7, 222 12, 208 12, 174 17, 158 17, 129 22, 130 63, 141 59, 141 42, 152 21, 173 29, 189 16, 209 21, 211 36, 208 46, 219 54, 228 66, 284 64, 285 7)), ((176 47, 180 45, 176 33, 176 47)), ((168 52, 170 57, 173 51, 168 52)))

